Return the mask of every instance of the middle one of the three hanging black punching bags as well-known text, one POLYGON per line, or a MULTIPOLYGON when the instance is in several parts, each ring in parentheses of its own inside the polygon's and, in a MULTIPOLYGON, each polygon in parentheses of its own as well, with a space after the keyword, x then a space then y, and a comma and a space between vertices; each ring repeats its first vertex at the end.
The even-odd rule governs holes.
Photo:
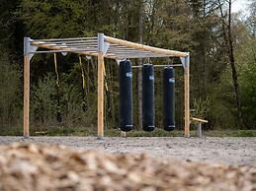
POLYGON ((154 130, 154 68, 152 64, 142 67, 142 127, 154 130))

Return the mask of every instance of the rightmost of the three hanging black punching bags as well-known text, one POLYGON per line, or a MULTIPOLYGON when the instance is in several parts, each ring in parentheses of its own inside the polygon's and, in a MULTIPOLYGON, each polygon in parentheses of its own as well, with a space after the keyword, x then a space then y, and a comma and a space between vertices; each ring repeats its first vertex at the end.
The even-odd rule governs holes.
POLYGON ((175 128, 175 79, 173 67, 163 70, 163 126, 166 131, 175 128))

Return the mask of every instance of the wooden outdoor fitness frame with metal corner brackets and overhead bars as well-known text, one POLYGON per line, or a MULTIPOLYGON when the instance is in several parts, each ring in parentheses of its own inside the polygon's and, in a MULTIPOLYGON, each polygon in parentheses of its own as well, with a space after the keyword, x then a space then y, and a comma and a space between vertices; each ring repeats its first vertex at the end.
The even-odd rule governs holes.
MULTIPOLYGON (((24 38, 24 137, 30 136, 30 61, 37 53, 67 52, 98 57, 98 137, 104 137, 104 58, 118 62, 127 58, 179 57, 184 69, 185 137, 190 137, 190 54, 152 47, 98 33, 95 37, 24 38), (43 48, 46 50, 38 50, 43 48)), ((159 66, 159 65, 155 65, 159 66)), ((166 65, 168 66, 168 65, 166 65)), ((180 66, 180 65, 173 65, 180 66)), ((136 66, 133 66, 136 67, 136 66)))

